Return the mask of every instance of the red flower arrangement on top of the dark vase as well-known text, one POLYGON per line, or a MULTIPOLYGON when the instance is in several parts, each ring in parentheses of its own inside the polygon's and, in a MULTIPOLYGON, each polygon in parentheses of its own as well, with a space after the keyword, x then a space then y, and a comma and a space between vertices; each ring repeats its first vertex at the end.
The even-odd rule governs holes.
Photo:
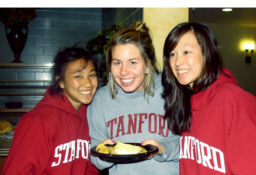
POLYGON ((0 8, 0 20, 7 26, 26 28, 37 17, 37 8, 0 8))

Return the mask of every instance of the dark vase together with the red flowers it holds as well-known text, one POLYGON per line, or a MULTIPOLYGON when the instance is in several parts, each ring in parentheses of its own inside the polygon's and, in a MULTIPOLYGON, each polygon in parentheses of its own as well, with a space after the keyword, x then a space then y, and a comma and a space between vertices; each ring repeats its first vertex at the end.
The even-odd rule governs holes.
POLYGON ((22 62, 21 53, 28 38, 29 20, 37 17, 37 8, 0 8, 0 20, 5 25, 5 33, 8 43, 14 52, 15 60, 12 62, 22 62), (7 29, 11 29, 8 33, 7 29), (22 32, 26 30, 26 34, 22 32))

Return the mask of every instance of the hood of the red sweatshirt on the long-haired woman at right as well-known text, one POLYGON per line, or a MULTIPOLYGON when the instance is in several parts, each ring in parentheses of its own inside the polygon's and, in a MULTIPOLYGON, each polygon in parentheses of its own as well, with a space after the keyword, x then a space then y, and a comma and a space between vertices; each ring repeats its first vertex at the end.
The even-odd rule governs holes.
POLYGON ((220 73, 217 80, 214 81, 208 89, 191 96, 191 108, 193 111, 203 110, 208 105, 211 105, 212 99, 222 88, 230 84, 238 86, 238 82, 235 80, 234 75, 225 67, 223 67, 223 70, 228 76, 220 73))

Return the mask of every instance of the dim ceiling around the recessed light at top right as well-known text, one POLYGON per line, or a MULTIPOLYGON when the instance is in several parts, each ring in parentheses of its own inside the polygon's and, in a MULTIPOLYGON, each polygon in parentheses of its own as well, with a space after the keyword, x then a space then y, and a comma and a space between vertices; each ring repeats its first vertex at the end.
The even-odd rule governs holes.
POLYGON ((203 23, 256 27, 256 8, 189 8, 189 20, 203 23))

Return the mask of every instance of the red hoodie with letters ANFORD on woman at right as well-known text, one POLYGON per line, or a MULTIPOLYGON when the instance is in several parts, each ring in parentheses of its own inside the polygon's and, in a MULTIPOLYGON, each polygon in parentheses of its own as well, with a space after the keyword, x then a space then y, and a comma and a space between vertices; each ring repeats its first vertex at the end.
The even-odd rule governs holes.
POLYGON ((225 73, 191 97, 190 133, 180 138, 180 174, 256 174, 256 98, 225 73))

